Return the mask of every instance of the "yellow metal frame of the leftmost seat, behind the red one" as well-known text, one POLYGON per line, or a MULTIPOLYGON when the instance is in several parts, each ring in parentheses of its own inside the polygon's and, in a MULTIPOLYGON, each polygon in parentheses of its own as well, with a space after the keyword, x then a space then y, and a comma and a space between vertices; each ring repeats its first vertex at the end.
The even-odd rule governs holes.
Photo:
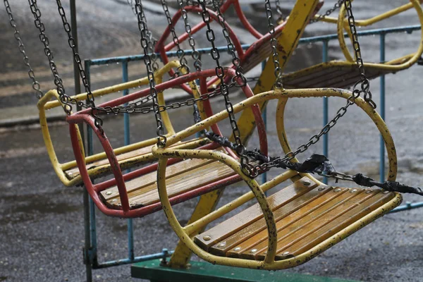
MULTIPOLYGON (((170 61, 169 63, 167 63, 163 68, 159 69, 155 74, 154 74, 154 78, 156 80, 156 83, 161 83, 162 79, 164 77, 164 75, 166 73, 168 73, 168 71, 171 70, 171 68, 180 68, 180 62, 179 61, 170 61)), ((185 73, 185 69, 184 68, 180 68, 181 71, 183 73, 185 73)), ((148 85, 148 78, 141 78, 139 80, 133 80, 130 82, 125 82, 125 83, 121 83, 118 85, 114 85, 111 87, 105 87, 99 90, 95 90, 92 92, 92 94, 94 95, 94 97, 99 97, 99 96, 103 96, 106 94, 111 94, 111 93, 116 93, 118 91, 122 91, 122 90, 128 90, 131 89, 133 87, 138 87, 138 86, 142 86, 142 85, 148 85)), ((195 82, 190 82, 190 87, 192 88, 192 92, 193 95, 198 98, 200 97, 200 92, 197 89, 197 85, 195 84, 195 82)), ((85 99, 87 99, 87 93, 82 93, 82 94, 78 94, 73 96, 72 98, 76 99, 77 101, 83 101, 85 99)), ((164 102, 164 94, 163 92, 160 92, 158 94, 158 99, 159 99, 159 104, 165 104, 164 102)), ((49 158, 51 161, 51 164, 53 165, 54 171, 56 171, 57 176, 59 177, 59 179, 61 180, 61 182, 66 185, 66 186, 73 186, 73 185, 78 185, 79 183, 82 182, 82 178, 81 176, 76 176, 75 178, 68 178, 68 176, 66 176, 65 171, 71 169, 71 168, 76 168, 78 167, 76 164, 76 161, 68 161, 66 163, 61 164, 59 162, 59 159, 56 156, 56 152, 54 150, 54 145, 53 142, 51 140, 51 135, 49 132, 49 126, 47 123, 47 116, 46 116, 46 111, 49 109, 53 109, 56 108, 58 106, 63 106, 60 102, 60 97, 59 94, 57 93, 56 90, 50 90, 49 92, 47 92, 44 97, 42 97, 42 99, 39 100, 37 107, 38 107, 38 111, 39 111, 39 123, 41 125, 42 128, 42 135, 44 138, 44 144, 47 147, 47 153, 49 154, 49 158), (54 99, 55 98, 55 99, 54 99)), ((199 109, 200 109, 200 115, 202 116, 202 118, 206 117, 206 114, 204 113, 204 109, 202 106, 202 103, 198 103, 199 109)), ((170 121, 170 118, 168 117, 168 114, 166 113, 166 111, 161 113, 163 122, 164 122, 164 126, 166 128, 167 131, 167 136, 171 136, 175 133, 175 130, 173 130, 173 126, 172 123, 170 121)), ((78 130, 78 126, 75 125, 77 127, 78 130)), ((80 135, 80 132, 78 130, 78 139, 80 140, 80 144, 81 144, 81 148, 83 148, 82 146, 82 138, 80 135)), ((147 146, 151 146, 154 145, 157 142, 156 138, 151 138, 148 140, 144 140, 142 142, 137 142, 128 146, 124 146, 124 147, 120 147, 118 149, 114 150, 114 153, 116 155, 118 154, 123 154, 126 152, 131 152, 135 149, 140 149, 143 147, 147 147, 147 146)), ((188 145, 185 144, 182 147, 200 147, 201 145, 204 145, 204 140, 202 139, 198 139, 198 140, 193 140, 192 142, 189 142, 188 145)), ((85 156, 85 152, 83 152, 84 156, 85 156)), ((86 157, 85 161, 87 163, 92 163, 94 161, 99 161, 101 159, 106 159, 106 153, 100 153, 100 154, 94 154, 92 156, 86 157)), ((152 154, 145 154, 142 156, 137 156, 137 157, 131 157, 128 159, 125 159, 123 161, 120 162, 121 167, 122 168, 129 168, 130 166, 134 166, 136 164, 141 164, 142 162, 147 162, 147 161, 152 161, 152 159, 154 159, 154 157, 152 156, 152 154)), ((90 168, 88 170, 88 172, 90 173, 90 176, 95 177, 95 176, 100 176, 104 173, 107 173, 110 171, 110 165, 106 164, 103 166, 97 166, 94 168, 90 168)))

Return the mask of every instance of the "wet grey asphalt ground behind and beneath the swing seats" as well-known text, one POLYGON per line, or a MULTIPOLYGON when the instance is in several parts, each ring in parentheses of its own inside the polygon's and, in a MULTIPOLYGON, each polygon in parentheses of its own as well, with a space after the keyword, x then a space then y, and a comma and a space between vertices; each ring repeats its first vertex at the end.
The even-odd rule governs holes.
MULTIPOLYGON (((82 57, 137 53, 139 47, 135 19, 130 8, 125 6, 125 1, 122 2, 78 3, 82 57)), ((374 1, 357 0, 354 3, 356 2, 357 16, 366 18, 393 8, 398 1, 383 1, 385 5, 380 5, 381 1, 377 2, 379 5, 374 1)), ((289 7, 293 1, 284 3, 284 6, 289 7)), ((33 34, 32 23, 27 18, 30 16, 27 5, 23 0, 14 4, 12 8, 16 11, 18 23, 23 27, 21 33, 27 35, 25 38, 30 42, 27 44, 27 53, 32 55, 30 59, 33 66, 41 73, 40 80, 44 82, 44 89, 47 89, 51 87, 51 82, 45 84, 49 81, 47 61, 42 56, 39 42, 35 41, 37 38, 33 34)), ((64 4, 68 8, 68 3, 64 4)), ((327 3, 328 6, 331 4, 327 3)), ((63 77, 68 79, 68 92, 71 93, 73 83, 69 50, 66 49, 56 10, 51 5, 47 1, 39 1, 39 6, 44 8, 43 16, 46 25, 50 27, 51 37, 60 35, 58 39, 51 40, 51 45, 55 47, 56 61, 61 67, 59 71, 63 70, 63 77)), ((7 26, 6 13, 3 9, 0 13, 0 108, 35 104, 35 98, 27 87, 25 68, 20 62, 11 30, 7 26), (25 83, 26 86, 19 88, 25 83), (16 93, 11 94, 13 91, 16 93)), ((154 26, 155 35, 158 36, 164 28, 164 19, 152 13, 148 13, 147 18, 157 21, 157 24, 150 26, 154 26)), ((258 13, 252 16, 252 22, 257 25, 261 25, 261 19, 258 13)), ((378 24, 375 27, 416 23, 415 13, 410 11, 388 20, 386 25, 378 24)), ((331 25, 316 24, 307 27, 307 35, 332 32, 334 28, 331 25)), ((200 46, 207 46, 201 39, 199 42, 200 46)), ((415 51, 419 35, 418 32, 412 35, 388 35, 386 42, 387 59, 393 59, 415 51)), ((378 61, 378 44, 377 37, 362 39, 365 59, 378 61)), ((293 56, 289 69, 317 63, 321 59, 320 51, 318 45, 302 46, 293 56)), ((330 54, 331 59, 341 58, 336 42, 330 44, 330 54)), ((131 78, 143 72, 137 63, 132 67, 131 78)), ((97 86, 117 82, 119 68, 120 66, 107 66, 94 70, 94 75, 99 78, 97 86)), ((415 186, 422 186, 423 173, 423 131, 420 126, 423 120, 422 74, 422 66, 413 66, 386 78, 386 122, 396 142, 398 180, 415 186)), ((372 81, 372 92, 376 103, 379 103, 378 80, 372 81)), ((233 99, 236 101, 240 97, 234 96, 233 99)), ((341 99, 330 99, 330 117, 344 103, 341 99)), ((222 109, 219 100, 214 104, 215 111, 222 109)), ((321 99, 293 100, 288 105, 286 128, 291 145, 296 147, 307 141, 321 127, 321 99)), ((269 153, 272 155, 281 153, 274 122, 275 108, 274 104, 268 106, 269 153)), ((192 123, 191 109, 178 109, 171 116, 177 130, 192 123)), ((123 118, 107 118, 105 124, 106 134, 112 145, 123 145, 123 118)), ((229 134, 227 123, 223 123, 221 127, 224 133, 229 134)), ((134 116, 131 119, 131 140, 145 139, 154 134, 152 116, 134 116)), ((51 136, 59 160, 73 159, 66 124, 59 122, 52 126, 51 136)), ((333 128, 329 141, 329 157, 338 171, 360 171, 377 177, 379 135, 362 112, 357 109, 349 111, 336 128, 333 128)), ((257 137, 253 136, 249 147, 257 145, 257 137)), ((99 152, 98 146, 95 149, 99 152)), ((309 154, 319 153, 321 146, 312 147, 309 151, 309 154)), ((36 124, 0 128, 0 167, 0 281, 85 281, 85 266, 82 263, 82 188, 65 188, 56 178, 36 124)), ((269 178, 277 173, 279 171, 271 171, 269 178)), ((233 200, 243 192, 247 192, 243 185, 226 188, 221 204, 233 200)), ((423 199, 418 196, 405 195, 405 201, 421 200, 423 199)), ((194 207, 195 200, 176 207, 181 223, 188 221, 194 207)), ((423 261, 421 215, 422 210, 419 209, 388 214, 307 264, 288 271, 361 281, 423 281, 423 269, 420 267, 423 261)), ((162 212, 144 219, 135 219, 134 226, 135 255, 160 252, 163 247, 171 250, 178 242, 162 212)), ((111 219, 97 212, 97 228, 100 262, 127 256, 125 220, 111 219)), ((138 280, 130 278, 130 266, 119 266, 94 271, 94 281, 138 280)))

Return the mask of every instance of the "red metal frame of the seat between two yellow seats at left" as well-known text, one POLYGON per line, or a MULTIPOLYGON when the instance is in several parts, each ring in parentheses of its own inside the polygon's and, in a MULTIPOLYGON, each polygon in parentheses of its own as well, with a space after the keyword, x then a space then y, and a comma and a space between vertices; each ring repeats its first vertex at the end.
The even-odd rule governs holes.
MULTIPOLYGON (((235 77, 235 71, 232 68, 224 68, 223 73, 228 78, 235 77)), ((200 87, 202 90, 204 90, 205 87, 207 87, 207 78, 213 77, 214 75, 216 75, 216 71, 214 69, 196 72, 196 73, 189 73, 187 75, 181 75, 180 77, 175 78, 173 80, 162 82, 159 85, 157 85, 156 88, 158 92, 162 92, 169 88, 180 86, 187 82, 200 79, 200 87)), ((246 97, 252 97, 253 93, 248 85, 241 87, 241 89, 243 90, 246 97)), ((140 97, 145 97, 147 94, 149 94, 149 89, 140 90, 138 92, 128 94, 127 96, 119 97, 117 99, 106 102, 104 104, 101 104, 100 106, 103 106, 103 107, 104 106, 118 106, 130 101, 133 101, 135 99, 138 99, 140 97)), ((211 116, 213 114, 209 100, 204 101, 204 110, 206 111, 207 116, 211 116)), ((77 161, 78 168, 82 176, 82 180, 85 184, 85 188, 87 188, 88 193, 92 197, 94 204, 96 204, 99 210, 103 212, 104 214, 108 216, 116 216, 121 218, 141 217, 147 214, 151 214, 152 212, 157 212, 159 209, 161 209, 160 202, 148 205, 146 207, 130 209, 129 201, 128 201, 128 193, 125 187, 125 181, 139 177, 139 176, 143 176, 146 173, 150 173, 152 171, 157 171, 157 164, 151 164, 149 166, 139 168, 135 171, 132 171, 130 173, 125 173, 125 175, 123 175, 121 168, 118 164, 118 159, 116 158, 116 155, 114 154, 114 150, 111 147, 111 144, 109 140, 107 139, 106 134, 102 133, 102 130, 100 130, 94 125, 94 118, 92 118, 92 116, 90 115, 90 111, 91 109, 85 109, 83 111, 79 111, 75 114, 72 114, 71 116, 68 116, 66 118, 66 121, 68 121, 69 123, 69 130, 71 133, 73 152, 75 154, 75 159, 77 161), (85 165, 85 157, 82 154, 82 148, 80 147, 80 143, 78 142, 78 133, 76 130, 77 123, 86 123, 87 125, 89 125, 94 131, 95 135, 97 135, 97 137, 99 138, 99 141, 102 144, 104 152, 106 152, 106 156, 109 159, 109 162, 111 164, 111 171, 114 175, 114 179, 106 180, 102 183, 98 183, 95 185, 92 183, 87 171, 87 167, 85 165), (119 197, 121 199, 121 209, 111 209, 110 207, 107 207, 107 205, 102 201, 99 195, 100 192, 114 185, 118 186, 119 197)), ((255 121, 257 123, 260 150, 264 154, 267 154, 267 137, 266 137, 266 130, 264 127, 264 121, 262 119, 262 113, 257 105, 252 106, 252 112, 255 116, 255 121)), ((218 125, 212 126, 212 130, 214 130, 214 133, 218 133, 218 134, 220 133, 218 125)), ((211 143, 209 145, 204 145, 200 147, 199 149, 216 149, 217 147, 220 147, 220 145, 216 143, 211 143)), ((230 149, 227 149, 227 152, 231 154, 233 157, 235 157, 235 154, 230 149)), ((178 161, 182 161, 182 160, 168 159, 168 164, 176 164, 178 161)), ((185 192, 183 194, 171 197, 171 204, 178 204, 180 202, 190 200, 192 197, 203 195, 204 193, 210 192, 218 188, 222 188, 226 185, 230 185, 231 183, 235 183, 240 180, 241 178, 238 175, 230 176, 222 180, 216 180, 213 183, 209 183, 208 185, 204 185, 200 188, 196 188, 195 190, 191 190, 189 192, 185 192)))

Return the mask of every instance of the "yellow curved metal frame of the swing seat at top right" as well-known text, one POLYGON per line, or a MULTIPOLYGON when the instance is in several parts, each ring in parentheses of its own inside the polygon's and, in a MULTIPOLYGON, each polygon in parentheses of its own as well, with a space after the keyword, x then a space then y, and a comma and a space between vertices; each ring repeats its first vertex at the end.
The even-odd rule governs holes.
MULTIPOLYGON (((374 18, 357 21, 357 22, 360 22, 360 26, 372 25, 373 23, 379 22, 381 20, 394 16, 403 11, 407 11, 410 8, 415 8, 415 10, 417 11, 417 16, 419 17, 419 23, 421 26, 423 26, 423 10, 422 10, 422 6, 420 5, 420 2, 418 0, 410 0, 410 2, 411 3, 409 4, 400 6, 396 9, 393 9, 392 11, 381 14, 374 18)), ((346 13, 345 6, 341 6, 341 9, 339 11, 338 21, 337 21, 338 41, 339 41, 339 46, 341 47, 341 50, 345 56, 345 59, 349 62, 354 62, 355 60, 353 59, 353 56, 350 54, 347 44, 345 43, 345 37, 343 33, 344 27, 348 27, 348 21, 345 21, 345 13, 346 13)), ((348 36, 351 38, 349 27, 345 28, 345 30, 347 31, 348 36)), ((364 68, 366 66, 374 66, 386 71, 393 71, 393 72, 401 71, 405 68, 410 68, 410 66, 412 66, 414 63, 417 62, 417 60, 420 58, 420 56, 422 56, 422 53, 423 53, 423 29, 420 30, 420 37, 421 39, 420 39, 419 48, 417 49, 417 51, 414 54, 410 54, 403 58, 400 58, 400 59, 403 59, 403 61, 400 61, 399 64, 398 64, 398 59, 396 59, 387 63, 364 63, 364 68), (404 59, 406 60, 404 61, 404 59)))

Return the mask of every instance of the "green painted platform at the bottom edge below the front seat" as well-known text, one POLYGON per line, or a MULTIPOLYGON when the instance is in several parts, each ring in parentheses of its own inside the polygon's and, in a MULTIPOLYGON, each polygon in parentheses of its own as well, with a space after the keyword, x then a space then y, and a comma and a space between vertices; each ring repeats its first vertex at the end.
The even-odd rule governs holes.
POLYGON ((207 262, 190 262, 190 269, 170 269, 160 265, 161 259, 139 262, 131 266, 131 276, 154 282, 357 282, 339 278, 293 274, 286 271, 266 271, 240 269, 229 266, 213 265, 207 262))

